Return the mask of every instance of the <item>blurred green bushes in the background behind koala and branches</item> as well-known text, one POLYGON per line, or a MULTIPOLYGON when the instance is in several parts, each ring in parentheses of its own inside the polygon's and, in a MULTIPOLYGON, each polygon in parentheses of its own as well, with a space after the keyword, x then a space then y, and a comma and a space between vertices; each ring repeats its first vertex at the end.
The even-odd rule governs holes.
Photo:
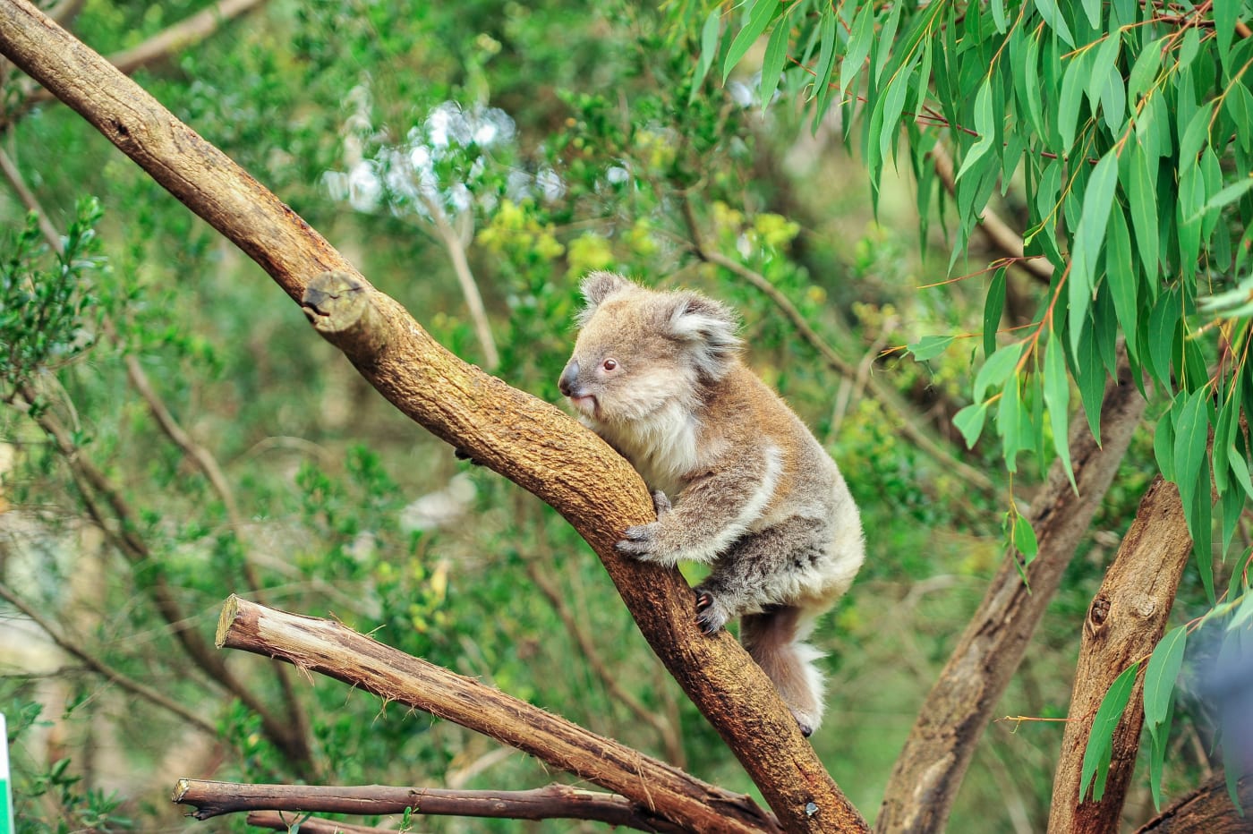
MULTIPOLYGON (((85 0, 69 21, 110 54, 203 8, 85 0)), ((540 398, 559 401, 589 269, 734 304, 751 363, 826 442, 863 511, 870 560, 819 632, 831 703, 814 744, 872 815, 1004 557, 1011 486, 1025 505, 1041 467, 1020 460, 1010 485, 995 438, 967 451, 952 428, 977 339, 926 362, 892 351, 979 333, 991 275, 935 286, 950 275, 944 225, 927 227, 920 250, 915 187, 891 167, 872 213, 840 113, 811 129, 786 99, 763 109, 747 74, 693 93, 705 11, 268 0, 134 78, 444 344, 540 398)), ((555 512, 456 461, 81 118, 55 103, 23 109, 24 79, 9 69, 4 83, 14 119, 0 148, 53 227, 29 217, 10 178, 0 580, 13 599, 0 604, 0 709, 20 831, 242 830, 183 820, 167 801, 178 776, 465 788, 564 778, 262 659, 219 657, 224 682, 180 635, 212 652, 231 592, 337 617, 752 790, 555 512)), ((955 273, 984 268, 980 245, 955 273)), ((1011 314, 1045 292, 1009 281, 1011 314)), ((1083 612, 1155 471, 1141 432, 1000 714, 1065 715, 1083 612)), ((1180 592, 1189 606, 1204 610, 1193 576, 1180 592)), ((952 830, 1041 828, 1060 738, 1059 724, 994 724, 952 830)), ((1210 771, 1207 744, 1178 723, 1168 795, 1210 771)), ((1148 803, 1140 779, 1128 814, 1146 818, 1148 803)))

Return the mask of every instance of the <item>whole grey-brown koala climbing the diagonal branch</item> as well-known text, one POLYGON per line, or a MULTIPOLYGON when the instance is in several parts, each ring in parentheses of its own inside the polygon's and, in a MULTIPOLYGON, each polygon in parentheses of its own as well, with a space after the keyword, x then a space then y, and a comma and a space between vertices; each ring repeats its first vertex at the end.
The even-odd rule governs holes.
POLYGON ((822 654, 804 640, 865 559, 838 467, 743 364, 730 308, 608 272, 588 275, 583 296, 559 388, 640 473, 658 515, 626 528, 618 550, 712 565, 694 589, 698 625, 712 635, 738 617, 741 642, 812 734, 822 654))

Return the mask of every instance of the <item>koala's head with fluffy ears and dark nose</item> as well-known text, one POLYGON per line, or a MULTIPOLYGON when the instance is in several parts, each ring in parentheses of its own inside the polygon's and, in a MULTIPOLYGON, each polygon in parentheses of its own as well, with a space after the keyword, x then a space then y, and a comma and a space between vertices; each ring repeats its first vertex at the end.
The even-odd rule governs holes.
POLYGON ((694 404, 700 386, 737 362, 736 313, 704 296, 594 272, 583 297, 579 338, 558 384, 593 420, 640 420, 675 399, 694 404))

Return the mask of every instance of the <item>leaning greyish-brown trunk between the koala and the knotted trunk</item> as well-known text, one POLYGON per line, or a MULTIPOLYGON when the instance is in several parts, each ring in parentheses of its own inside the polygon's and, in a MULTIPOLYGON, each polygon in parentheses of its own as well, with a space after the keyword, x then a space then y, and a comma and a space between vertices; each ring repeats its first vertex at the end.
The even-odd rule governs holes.
POLYGON ((1088 532, 1144 404, 1123 354, 1118 378, 1105 387, 1101 404, 1104 443, 1098 446, 1084 414, 1075 414, 1070 455, 1079 491, 1055 462, 1031 505, 1039 552, 1025 569, 1026 581, 1019 575, 1017 553, 1011 553, 922 704, 887 781, 877 831, 944 830, 992 709, 1088 532))

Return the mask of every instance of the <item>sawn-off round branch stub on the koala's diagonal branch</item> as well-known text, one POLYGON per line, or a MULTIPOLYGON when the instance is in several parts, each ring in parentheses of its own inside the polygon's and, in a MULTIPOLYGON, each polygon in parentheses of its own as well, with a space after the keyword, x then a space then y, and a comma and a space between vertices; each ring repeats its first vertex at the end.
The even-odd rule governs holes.
POLYGON ((323 272, 301 296, 301 309, 328 342, 353 361, 368 361, 386 347, 373 296, 377 291, 361 275, 323 272))

